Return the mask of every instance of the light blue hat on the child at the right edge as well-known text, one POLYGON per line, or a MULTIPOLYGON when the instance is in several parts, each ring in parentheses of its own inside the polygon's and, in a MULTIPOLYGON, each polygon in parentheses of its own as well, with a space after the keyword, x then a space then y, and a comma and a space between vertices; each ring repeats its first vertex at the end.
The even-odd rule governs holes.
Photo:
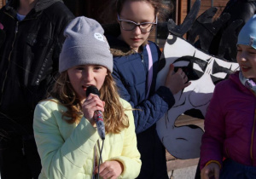
POLYGON ((256 14, 242 26, 236 44, 248 45, 256 49, 256 14))

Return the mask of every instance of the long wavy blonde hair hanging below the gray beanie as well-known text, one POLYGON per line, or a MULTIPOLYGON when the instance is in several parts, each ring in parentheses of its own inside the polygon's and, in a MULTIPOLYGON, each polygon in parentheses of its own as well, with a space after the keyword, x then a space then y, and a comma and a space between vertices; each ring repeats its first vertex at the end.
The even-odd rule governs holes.
MULTIPOLYGON (((122 106, 117 91, 111 72, 108 71, 108 75, 100 90, 100 98, 102 101, 105 101, 103 118, 106 133, 116 134, 129 127, 129 120, 125 115, 125 110, 129 109, 125 109, 122 106)), ((81 113, 81 104, 73 90, 72 84, 69 82, 67 71, 61 72, 49 95, 60 101, 61 105, 67 107, 67 112, 62 112, 62 118, 67 123, 79 123, 83 116, 81 113)))

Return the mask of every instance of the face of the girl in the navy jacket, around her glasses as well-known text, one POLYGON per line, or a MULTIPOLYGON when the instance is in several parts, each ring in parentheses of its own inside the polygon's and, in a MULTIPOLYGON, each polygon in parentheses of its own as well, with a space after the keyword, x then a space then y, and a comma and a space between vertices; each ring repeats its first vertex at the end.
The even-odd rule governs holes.
MULTIPOLYGON (((154 7, 147 1, 125 1, 119 18, 136 23, 154 22, 154 7)), ((147 40, 150 33, 142 32, 138 26, 132 31, 125 31, 121 27, 120 30, 121 38, 135 51, 138 51, 138 48, 147 40)))

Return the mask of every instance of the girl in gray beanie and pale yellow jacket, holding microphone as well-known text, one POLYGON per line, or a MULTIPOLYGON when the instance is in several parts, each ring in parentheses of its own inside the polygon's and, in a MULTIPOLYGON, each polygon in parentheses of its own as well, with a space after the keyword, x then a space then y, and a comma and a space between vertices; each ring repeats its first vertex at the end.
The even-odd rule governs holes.
POLYGON ((38 103, 33 129, 43 169, 39 178, 136 178, 141 169, 131 105, 119 98, 102 26, 77 17, 66 28, 59 78, 38 103), (98 95, 86 90, 94 85, 98 95), (106 137, 93 118, 102 111, 106 137))

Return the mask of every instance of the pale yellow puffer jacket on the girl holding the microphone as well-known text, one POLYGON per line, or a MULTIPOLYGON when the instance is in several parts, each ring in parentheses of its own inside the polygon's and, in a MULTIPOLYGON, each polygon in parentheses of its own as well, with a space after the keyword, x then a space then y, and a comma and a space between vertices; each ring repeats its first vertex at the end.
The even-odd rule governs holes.
MULTIPOLYGON (((131 108, 127 101, 120 101, 125 109, 131 108)), ((96 128, 84 117, 79 124, 64 121, 61 111, 66 110, 53 100, 41 101, 35 109, 33 129, 43 167, 39 178, 91 179, 94 147, 98 146, 98 140, 102 146, 102 141, 96 128)), ((119 134, 106 135, 102 162, 118 160, 124 165, 119 178, 136 178, 142 163, 137 150, 132 111, 125 111, 125 114, 130 126, 119 134)), ((99 156, 99 147, 96 155, 99 156)))

